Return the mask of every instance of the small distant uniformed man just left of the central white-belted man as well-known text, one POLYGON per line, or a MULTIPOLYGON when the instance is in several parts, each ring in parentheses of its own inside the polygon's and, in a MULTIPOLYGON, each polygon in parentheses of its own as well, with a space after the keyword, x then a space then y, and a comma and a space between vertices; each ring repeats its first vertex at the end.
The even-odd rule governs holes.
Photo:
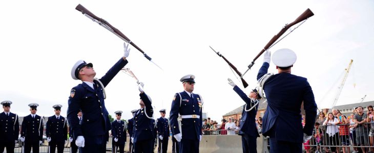
POLYGON ((158 152, 164 153, 168 151, 169 141, 169 120, 165 118, 166 110, 160 110, 161 117, 157 119, 157 131, 158 131, 158 152))

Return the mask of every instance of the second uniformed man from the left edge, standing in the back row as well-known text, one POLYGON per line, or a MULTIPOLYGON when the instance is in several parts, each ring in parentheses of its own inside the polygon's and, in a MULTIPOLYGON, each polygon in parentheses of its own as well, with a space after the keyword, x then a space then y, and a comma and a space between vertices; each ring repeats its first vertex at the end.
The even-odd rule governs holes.
POLYGON ((25 153, 39 152, 39 144, 43 141, 43 117, 36 115, 36 103, 29 104, 31 114, 24 117, 21 128, 21 141, 25 142, 25 153))

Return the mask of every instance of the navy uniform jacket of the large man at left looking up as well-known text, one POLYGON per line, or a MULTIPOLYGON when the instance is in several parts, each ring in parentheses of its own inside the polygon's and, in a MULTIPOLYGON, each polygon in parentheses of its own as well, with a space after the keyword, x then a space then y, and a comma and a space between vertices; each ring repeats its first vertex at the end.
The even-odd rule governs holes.
MULTIPOLYGON (((128 63, 122 58, 113 65, 111 69, 99 79, 104 87, 114 78, 114 76, 128 63)), ((78 136, 98 136, 105 135, 112 129, 108 111, 104 103, 104 94, 100 84, 94 80, 94 89, 82 82, 73 89, 68 101, 68 121, 72 126, 74 140, 78 136), (82 110, 82 121, 79 124, 77 114, 82 110)), ((107 137, 108 138, 108 137, 107 137)))

